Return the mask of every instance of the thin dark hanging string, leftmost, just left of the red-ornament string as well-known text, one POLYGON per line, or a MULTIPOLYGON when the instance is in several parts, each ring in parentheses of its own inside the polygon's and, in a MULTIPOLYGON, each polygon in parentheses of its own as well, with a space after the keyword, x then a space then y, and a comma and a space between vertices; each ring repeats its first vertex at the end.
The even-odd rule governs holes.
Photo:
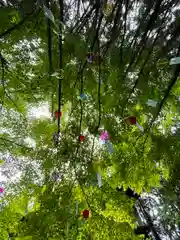
MULTIPOLYGON (((49 0, 46 0, 46 7, 50 9, 49 0)), ((49 60, 49 82, 51 82, 52 66, 52 29, 51 20, 47 18, 47 41, 48 41, 48 60, 49 60)), ((53 86, 53 81, 52 81, 53 86)), ((51 95, 51 116, 54 116, 54 93, 51 95)))

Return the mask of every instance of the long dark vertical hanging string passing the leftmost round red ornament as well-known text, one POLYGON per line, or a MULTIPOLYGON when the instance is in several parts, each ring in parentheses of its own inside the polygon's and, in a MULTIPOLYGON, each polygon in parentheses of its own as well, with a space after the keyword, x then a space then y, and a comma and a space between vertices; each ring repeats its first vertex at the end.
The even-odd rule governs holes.
MULTIPOLYGON (((59 23, 59 69, 60 69, 60 77, 59 77, 59 85, 58 85, 58 112, 61 112, 61 99, 62 99, 62 69, 63 69, 63 46, 62 46, 62 25, 64 23, 63 17, 63 0, 59 0, 60 6, 60 23, 59 23)), ((60 125, 61 125, 61 116, 58 116, 58 136, 60 134, 60 125)))

